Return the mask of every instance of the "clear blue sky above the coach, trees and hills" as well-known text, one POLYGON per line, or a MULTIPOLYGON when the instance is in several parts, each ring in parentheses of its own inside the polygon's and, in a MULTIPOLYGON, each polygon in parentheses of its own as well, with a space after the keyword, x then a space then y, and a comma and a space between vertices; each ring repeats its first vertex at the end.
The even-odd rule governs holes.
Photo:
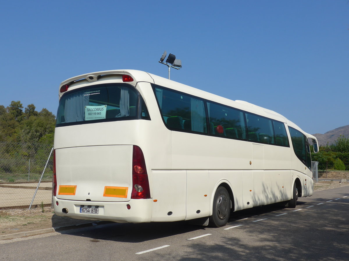
POLYGON ((274 110, 308 133, 349 124, 349 2, 4 1, 0 104, 56 114, 63 80, 136 69, 274 110))

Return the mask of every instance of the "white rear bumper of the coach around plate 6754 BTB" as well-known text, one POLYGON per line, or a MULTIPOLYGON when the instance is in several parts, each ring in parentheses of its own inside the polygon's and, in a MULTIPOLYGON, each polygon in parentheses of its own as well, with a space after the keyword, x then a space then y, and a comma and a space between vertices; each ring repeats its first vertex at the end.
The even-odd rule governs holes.
POLYGON ((151 221, 151 199, 131 199, 125 202, 77 201, 53 197, 54 212, 83 220, 105 220, 118 223, 141 223, 151 221), (58 205, 57 205, 58 203, 58 205), (127 208, 130 206, 130 209, 127 208), (98 214, 81 213, 81 207, 98 208, 98 214))

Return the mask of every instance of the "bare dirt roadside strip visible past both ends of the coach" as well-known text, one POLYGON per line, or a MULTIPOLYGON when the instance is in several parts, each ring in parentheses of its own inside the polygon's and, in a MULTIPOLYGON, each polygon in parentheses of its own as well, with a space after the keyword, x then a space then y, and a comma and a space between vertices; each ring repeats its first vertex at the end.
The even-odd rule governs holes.
MULTIPOLYGON (((340 183, 338 181, 319 181, 314 183, 314 191, 333 189, 337 187, 349 186, 349 172, 327 173, 327 179, 347 179, 348 182, 340 183), (344 175, 344 176, 343 176, 344 175), (345 177, 348 175, 348 177, 345 177)), ((325 178, 325 177, 324 177, 325 178)), ((0 239, 2 235, 9 235, 19 232, 27 232, 32 230, 57 228, 66 226, 77 226, 84 223, 96 222, 92 220, 77 220, 68 217, 61 217, 54 214, 51 207, 37 207, 28 209, 2 209, 0 210, 0 239), (44 211, 44 212, 43 212, 44 211)))

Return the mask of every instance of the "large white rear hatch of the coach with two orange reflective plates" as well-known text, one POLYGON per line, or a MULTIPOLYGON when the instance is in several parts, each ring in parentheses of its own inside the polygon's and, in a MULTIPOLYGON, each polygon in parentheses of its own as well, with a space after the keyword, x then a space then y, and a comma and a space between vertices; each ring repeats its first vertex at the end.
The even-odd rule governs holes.
POLYGON ((57 198, 129 201, 132 192, 132 151, 132 145, 56 149, 57 198), (65 188, 69 186, 76 186, 75 191, 65 193, 65 188))

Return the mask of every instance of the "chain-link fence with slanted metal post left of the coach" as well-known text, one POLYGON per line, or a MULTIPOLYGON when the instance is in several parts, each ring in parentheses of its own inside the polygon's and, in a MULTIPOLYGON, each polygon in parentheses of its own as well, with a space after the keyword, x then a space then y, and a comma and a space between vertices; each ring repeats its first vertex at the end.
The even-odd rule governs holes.
POLYGON ((51 149, 52 144, 0 142, 0 208, 28 207, 42 174, 32 205, 51 205, 51 149))

